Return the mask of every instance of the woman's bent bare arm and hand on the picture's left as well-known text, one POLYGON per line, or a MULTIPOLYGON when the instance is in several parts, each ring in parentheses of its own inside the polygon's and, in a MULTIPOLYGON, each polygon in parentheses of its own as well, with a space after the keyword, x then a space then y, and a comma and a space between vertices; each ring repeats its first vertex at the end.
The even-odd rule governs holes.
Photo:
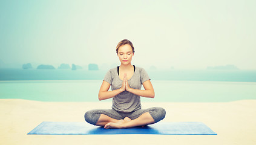
POLYGON ((112 98, 117 94, 120 94, 120 92, 125 91, 125 82, 123 80, 122 87, 120 89, 115 89, 113 91, 108 91, 108 89, 110 89, 110 83, 103 80, 102 85, 100 86, 99 95, 98 95, 100 101, 108 98, 112 98))

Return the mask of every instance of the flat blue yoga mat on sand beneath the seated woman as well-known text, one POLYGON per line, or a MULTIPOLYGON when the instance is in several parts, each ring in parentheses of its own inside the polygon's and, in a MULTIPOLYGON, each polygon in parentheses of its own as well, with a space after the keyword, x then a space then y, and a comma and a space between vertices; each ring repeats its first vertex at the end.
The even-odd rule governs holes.
POLYGON ((168 134, 168 135, 217 135, 202 122, 159 122, 145 127, 104 129, 85 122, 44 121, 28 135, 85 135, 85 134, 168 134))

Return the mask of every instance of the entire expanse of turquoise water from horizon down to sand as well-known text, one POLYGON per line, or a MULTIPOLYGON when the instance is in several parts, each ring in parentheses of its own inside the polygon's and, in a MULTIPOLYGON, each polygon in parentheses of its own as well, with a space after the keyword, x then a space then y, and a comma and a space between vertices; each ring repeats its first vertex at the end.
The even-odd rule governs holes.
MULTIPOLYGON (((142 101, 228 102, 256 99, 256 71, 146 71, 151 77, 155 98, 141 97, 142 101)), ((0 98, 99 101, 97 96, 106 72, 0 69, 0 98)))

